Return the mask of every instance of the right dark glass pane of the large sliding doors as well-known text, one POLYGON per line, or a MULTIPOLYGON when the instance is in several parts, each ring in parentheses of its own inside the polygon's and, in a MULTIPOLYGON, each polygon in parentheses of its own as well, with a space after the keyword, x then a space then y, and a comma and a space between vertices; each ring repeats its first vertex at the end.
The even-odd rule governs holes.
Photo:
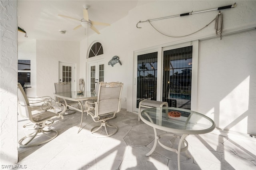
POLYGON ((192 46, 164 51, 163 101, 169 107, 191 108, 192 46))

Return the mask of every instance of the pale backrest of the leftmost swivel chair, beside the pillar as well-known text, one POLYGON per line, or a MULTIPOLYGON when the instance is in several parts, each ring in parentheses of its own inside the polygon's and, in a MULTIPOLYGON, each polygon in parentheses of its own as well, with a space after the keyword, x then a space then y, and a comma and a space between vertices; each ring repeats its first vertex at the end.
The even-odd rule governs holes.
POLYGON ((26 119, 32 117, 31 109, 29 106, 28 98, 20 83, 18 83, 18 114, 26 119))

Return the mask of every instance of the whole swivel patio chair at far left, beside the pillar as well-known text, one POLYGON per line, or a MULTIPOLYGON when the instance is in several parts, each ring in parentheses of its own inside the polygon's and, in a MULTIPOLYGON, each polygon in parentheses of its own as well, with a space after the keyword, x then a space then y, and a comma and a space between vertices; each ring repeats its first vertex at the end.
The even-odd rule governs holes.
POLYGON ((20 147, 36 146, 54 139, 58 132, 49 127, 54 123, 52 119, 60 117, 63 119, 64 112, 65 110, 61 110, 50 97, 28 100, 22 85, 18 83, 18 114, 30 121, 23 128, 34 131, 20 139, 20 147), (32 110, 37 112, 32 114, 32 110))

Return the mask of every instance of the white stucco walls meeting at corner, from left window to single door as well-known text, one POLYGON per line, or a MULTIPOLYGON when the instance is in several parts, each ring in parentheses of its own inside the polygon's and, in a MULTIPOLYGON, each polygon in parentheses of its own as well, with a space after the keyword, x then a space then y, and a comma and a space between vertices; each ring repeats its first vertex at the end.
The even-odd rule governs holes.
MULTIPOLYGON (((47 40, 18 42, 18 59, 31 61, 31 88, 26 89, 26 94, 30 97, 54 97, 54 83, 59 78, 59 61, 74 63, 79 69, 80 43, 47 40)), ((76 77, 79 77, 79 71, 76 72, 76 77)))

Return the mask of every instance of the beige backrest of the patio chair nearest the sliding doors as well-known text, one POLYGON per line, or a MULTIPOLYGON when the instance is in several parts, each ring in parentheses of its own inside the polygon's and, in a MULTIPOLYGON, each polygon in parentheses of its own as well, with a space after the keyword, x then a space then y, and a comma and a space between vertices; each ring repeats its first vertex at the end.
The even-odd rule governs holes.
MULTIPOLYGON (((123 83, 100 83, 96 112, 98 115, 118 113, 121 109, 121 93, 123 83)), ((97 114, 96 113, 96 114, 97 114)))

